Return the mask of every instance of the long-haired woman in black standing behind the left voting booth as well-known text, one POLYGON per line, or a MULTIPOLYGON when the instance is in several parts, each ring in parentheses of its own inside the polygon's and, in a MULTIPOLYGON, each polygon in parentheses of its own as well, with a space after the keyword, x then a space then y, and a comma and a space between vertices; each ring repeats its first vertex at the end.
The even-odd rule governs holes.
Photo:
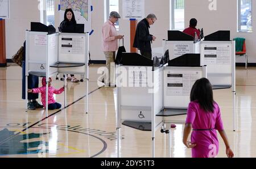
MULTIPOLYGON (((64 20, 60 23, 59 31, 65 33, 75 33, 76 19, 72 9, 66 9, 64 14, 64 20)), ((67 78, 71 82, 80 82, 75 75, 71 74, 71 77, 67 78)))

